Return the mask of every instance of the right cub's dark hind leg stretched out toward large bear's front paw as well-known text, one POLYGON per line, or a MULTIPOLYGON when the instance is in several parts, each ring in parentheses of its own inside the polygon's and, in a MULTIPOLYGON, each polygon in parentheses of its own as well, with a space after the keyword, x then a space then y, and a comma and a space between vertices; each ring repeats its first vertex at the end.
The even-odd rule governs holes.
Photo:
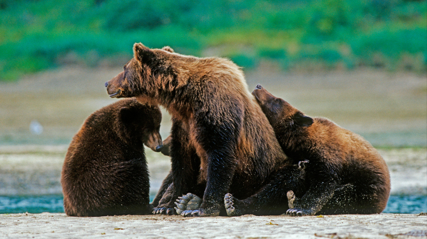
POLYGON ((289 190, 303 194, 305 172, 295 166, 285 166, 272 175, 271 180, 256 194, 238 200, 230 193, 225 194, 224 204, 228 216, 244 214, 280 215, 288 209, 286 192, 289 190))

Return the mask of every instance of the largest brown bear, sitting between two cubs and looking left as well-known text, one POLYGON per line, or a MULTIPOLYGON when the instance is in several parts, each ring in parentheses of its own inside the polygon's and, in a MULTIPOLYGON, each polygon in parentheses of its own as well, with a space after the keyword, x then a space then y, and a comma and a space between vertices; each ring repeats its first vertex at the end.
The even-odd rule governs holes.
POLYGON ((227 192, 246 198, 287 163, 242 71, 227 59, 181 55, 139 43, 134 58, 106 86, 110 97, 136 96, 164 106, 172 116, 173 183, 171 193, 159 200, 157 208, 165 209, 160 211, 170 213, 178 196, 193 192, 203 196, 193 215, 225 213, 227 192))

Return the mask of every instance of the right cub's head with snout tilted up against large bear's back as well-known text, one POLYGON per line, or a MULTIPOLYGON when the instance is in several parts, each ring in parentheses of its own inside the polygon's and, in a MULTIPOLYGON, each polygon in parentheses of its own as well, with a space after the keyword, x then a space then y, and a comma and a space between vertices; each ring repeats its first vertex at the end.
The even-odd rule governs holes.
POLYGON ((252 92, 264 114, 274 129, 283 127, 308 127, 313 119, 305 116, 301 111, 285 100, 275 97, 260 84, 252 92))

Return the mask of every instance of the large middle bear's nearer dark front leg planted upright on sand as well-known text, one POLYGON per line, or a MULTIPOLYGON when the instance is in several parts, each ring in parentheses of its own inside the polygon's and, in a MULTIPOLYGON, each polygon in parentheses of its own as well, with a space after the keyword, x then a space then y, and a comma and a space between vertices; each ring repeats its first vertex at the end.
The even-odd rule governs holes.
MULTIPOLYGON (((224 102, 219 102, 224 103, 224 102)), ((193 216, 218 216, 223 209, 223 197, 230 189, 234 177, 237 161, 236 148, 240 136, 243 119, 243 111, 238 107, 234 110, 215 115, 215 110, 220 108, 214 102, 206 101, 203 107, 213 109, 212 112, 195 112, 197 120, 196 139, 198 144, 206 152, 207 184, 203 195, 203 202, 199 210, 194 210, 193 216), (214 103, 209 107, 210 103, 214 103)), ((229 109, 230 105, 223 105, 229 109)))

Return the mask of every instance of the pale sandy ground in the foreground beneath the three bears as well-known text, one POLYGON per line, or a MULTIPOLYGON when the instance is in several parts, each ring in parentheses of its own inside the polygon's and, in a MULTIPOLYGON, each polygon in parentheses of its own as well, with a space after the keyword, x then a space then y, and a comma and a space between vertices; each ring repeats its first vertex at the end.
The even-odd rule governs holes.
POLYGON ((427 216, 375 214, 184 218, 76 218, 63 213, 0 214, 1 238, 427 238, 427 216))

